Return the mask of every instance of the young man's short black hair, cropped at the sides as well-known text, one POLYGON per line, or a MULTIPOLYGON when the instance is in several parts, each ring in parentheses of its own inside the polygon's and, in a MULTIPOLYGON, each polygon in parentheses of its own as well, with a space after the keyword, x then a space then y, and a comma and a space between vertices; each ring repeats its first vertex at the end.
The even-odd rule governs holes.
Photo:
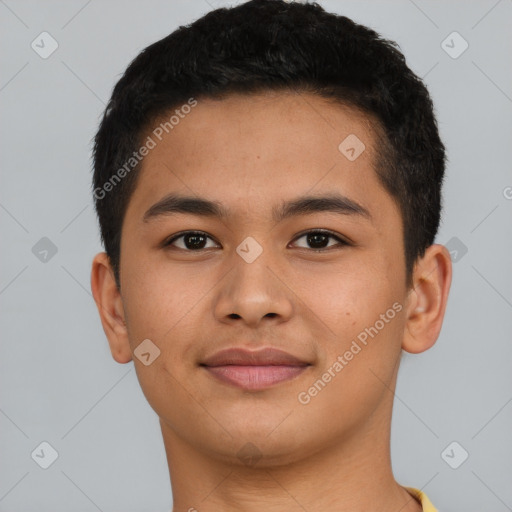
POLYGON ((410 283, 439 227, 445 170, 427 88, 398 45, 368 27, 317 3, 250 0, 151 44, 114 87, 94 138, 93 194, 118 287, 121 228, 140 169, 133 156, 151 123, 191 99, 269 90, 315 93, 374 122, 374 167, 402 215, 410 283))

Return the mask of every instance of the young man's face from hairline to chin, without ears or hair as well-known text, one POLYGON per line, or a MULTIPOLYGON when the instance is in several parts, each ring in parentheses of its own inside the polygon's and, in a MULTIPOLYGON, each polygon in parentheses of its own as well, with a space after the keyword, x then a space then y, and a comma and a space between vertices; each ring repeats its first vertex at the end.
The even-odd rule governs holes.
POLYGON ((317 96, 265 93, 200 100, 164 135, 152 135, 121 243, 130 350, 149 339, 160 351, 133 359, 162 425, 219 460, 252 443, 269 464, 378 428, 408 290, 371 124, 317 96), (269 347, 307 365, 261 370, 286 377, 266 386, 247 368, 203 366, 269 347))

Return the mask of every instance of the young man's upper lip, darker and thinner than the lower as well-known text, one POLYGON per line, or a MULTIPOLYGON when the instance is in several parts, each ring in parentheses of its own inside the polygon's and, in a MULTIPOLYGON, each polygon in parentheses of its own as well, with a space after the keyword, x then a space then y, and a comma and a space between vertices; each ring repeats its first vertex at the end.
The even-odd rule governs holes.
POLYGON ((202 366, 308 366, 309 363, 288 352, 276 348, 248 350, 246 348, 228 348, 216 352, 205 359, 202 366))

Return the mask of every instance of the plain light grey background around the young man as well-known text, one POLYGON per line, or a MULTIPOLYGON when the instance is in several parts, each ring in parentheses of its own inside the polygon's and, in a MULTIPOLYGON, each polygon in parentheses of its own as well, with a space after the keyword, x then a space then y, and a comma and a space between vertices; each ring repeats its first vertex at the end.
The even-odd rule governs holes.
MULTIPOLYGON (((395 475, 446 512, 512 510, 512 1, 320 3, 400 44, 448 149, 437 240, 456 237, 454 280, 439 341, 403 359, 395 475), (469 43, 458 58, 442 46, 453 31, 469 43), (457 469, 441 456, 453 441, 469 453, 457 469)), ((0 1, 2 512, 171 508, 157 416, 133 362, 111 358, 90 294, 90 140, 139 51, 225 4, 0 1), (59 45, 47 59, 31 48, 43 31, 59 45), (32 250, 43 237, 57 249, 46 262, 47 241, 32 250), (46 470, 31 458, 43 441, 59 455, 46 470)))

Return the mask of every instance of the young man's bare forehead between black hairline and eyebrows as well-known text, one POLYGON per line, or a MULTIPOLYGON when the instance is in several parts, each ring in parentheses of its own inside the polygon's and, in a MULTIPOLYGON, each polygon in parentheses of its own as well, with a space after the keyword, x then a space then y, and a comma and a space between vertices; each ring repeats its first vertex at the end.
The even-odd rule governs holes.
POLYGON ((374 171, 372 121, 351 107, 310 93, 264 92, 198 99, 165 124, 175 112, 143 136, 154 147, 129 209, 169 191, 253 212, 256 204, 275 208, 284 196, 310 192, 337 189, 360 204, 385 193, 374 171))

